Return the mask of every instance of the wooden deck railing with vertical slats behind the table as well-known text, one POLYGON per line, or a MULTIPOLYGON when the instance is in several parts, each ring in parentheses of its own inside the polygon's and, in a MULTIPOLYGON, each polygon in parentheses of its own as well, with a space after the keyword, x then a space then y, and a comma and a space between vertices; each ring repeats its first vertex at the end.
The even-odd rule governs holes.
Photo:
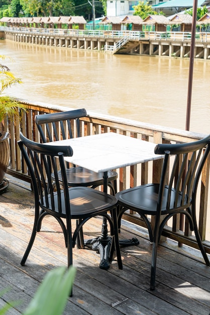
MULTIPOLYGON (((17 140, 19 139, 20 130, 30 139, 34 141, 40 141, 38 130, 34 121, 34 117, 37 114, 52 113, 62 110, 67 110, 66 107, 53 107, 50 105, 45 105, 42 103, 28 103, 23 100, 19 100, 28 106, 28 113, 24 114, 22 121, 19 119, 14 119, 11 121, 5 121, 5 130, 9 130, 10 137, 10 147, 11 147, 11 161, 8 168, 8 173, 18 177, 22 180, 30 182, 30 176, 28 174, 27 168, 23 161, 21 160, 21 153, 17 146, 17 140)), ((74 108, 75 109, 75 108, 74 108)), ((203 138, 204 134, 193 133, 190 131, 184 131, 173 128, 165 128, 158 125, 151 125, 147 123, 137 122, 128 119, 117 118, 113 116, 107 116, 102 114, 96 114, 87 111, 88 116, 81 118, 81 130, 82 135, 97 134, 102 132, 117 132, 122 133, 127 136, 132 136, 145 141, 150 141, 154 143, 176 143, 176 142, 189 142, 196 139, 203 138)), ((199 191, 197 195, 198 205, 197 208, 197 220, 199 225, 200 235, 206 251, 210 253, 210 233, 206 232, 207 220, 210 220, 210 205, 208 204, 208 185, 209 185, 209 161, 204 167, 201 176, 201 185, 199 186, 199 191)), ((134 165, 131 167, 122 168, 118 171, 118 190, 123 190, 140 184, 146 184, 148 182, 158 182, 160 178, 160 169, 162 164, 161 160, 148 162, 141 165, 134 165)), ((124 215, 126 220, 145 226, 144 222, 141 220, 140 216, 136 213, 127 212, 124 215)), ((173 226, 179 226, 180 217, 177 215, 176 224, 173 226)), ((189 228, 186 227, 185 230, 181 231, 179 228, 172 229, 169 224, 164 228, 164 236, 173 239, 179 244, 186 244, 190 247, 197 248, 195 239, 191 235, 189 228)), ((209 225, 209 224, 208 224, 209 225)))

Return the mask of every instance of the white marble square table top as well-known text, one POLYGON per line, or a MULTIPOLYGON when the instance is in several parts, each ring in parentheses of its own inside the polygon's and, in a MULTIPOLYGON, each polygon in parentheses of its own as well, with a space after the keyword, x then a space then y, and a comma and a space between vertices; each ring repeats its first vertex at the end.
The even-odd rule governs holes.
POLYGON ((48 142, 48 144, 70 145, 73 155, 65 157, 65 160, 96 173, 158 160, 162 157, 154 153, 155 143, 114 132, 48 142))

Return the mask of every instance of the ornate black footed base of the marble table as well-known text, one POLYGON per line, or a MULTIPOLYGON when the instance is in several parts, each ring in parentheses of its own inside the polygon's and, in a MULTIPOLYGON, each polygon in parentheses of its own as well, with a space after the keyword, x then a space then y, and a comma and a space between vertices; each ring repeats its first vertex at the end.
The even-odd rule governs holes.
MULTIPOLYGON (((121 247, 139 245, 139 241, 136 238, 131 240, 119 240, 121 247)), ((95 239, 84 240, 84 246, 91 248, 93 251, 97 251, 100 254, 100 264, 99 268, 108 270, 110 268, 110 248, 112 244, 112 239, 107 238, 107 240, 98 237, 95 239)))

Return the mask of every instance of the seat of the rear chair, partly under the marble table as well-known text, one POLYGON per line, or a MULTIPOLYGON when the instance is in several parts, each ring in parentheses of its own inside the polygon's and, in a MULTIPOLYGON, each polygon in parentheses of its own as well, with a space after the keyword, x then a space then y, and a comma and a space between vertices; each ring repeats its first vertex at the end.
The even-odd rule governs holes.
MULTIPOLYGON (((82 167, 73 167, 66 169, 66 176, 68 185, 71 187, 75 186, 97 186, 103 184, 103 172, 95 173, 84 169, 82 167)), ((118 173, 113 171, 108 171, 108 181, 114 181, 118 178, 118 173)), ((52 174, 52 179, 55 180, 54 174, 52 174)), ((61 172, 58 172, 58 179, 62 182, 61 172)))

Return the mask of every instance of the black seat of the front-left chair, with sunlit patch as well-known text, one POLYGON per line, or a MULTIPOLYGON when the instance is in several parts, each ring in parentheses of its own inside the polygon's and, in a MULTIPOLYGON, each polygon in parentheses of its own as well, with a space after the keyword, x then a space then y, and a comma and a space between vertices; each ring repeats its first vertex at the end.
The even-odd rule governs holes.
MULTIPOLYGON (((64 192, 61 191, 61 205, 62 213, 59 213, 58 208, 58 198, 56 198, 57 193, 54 193, 54 205, 49 204, 48 207, 43 207, 40 203, 40 207, 45 211, 50 212, 50 209, 53 209, 53 215, 58 214, 59 217, 66 217, 65 213, 65 197, 64 192)), ((70 209, 71 209, 71 218, 80 219, 84 217, 100 215, 112 209, 117 204, 117 198, 115 196, 104 194, 103 192, 91 189, 88 187, 74 187, 69 188, 69 197, 70 197, 70 209)), ((48 195, 48 201, 50 202, 51 198, 48 195)), ((46 205, 44 199, 44 205, 46 205)))

